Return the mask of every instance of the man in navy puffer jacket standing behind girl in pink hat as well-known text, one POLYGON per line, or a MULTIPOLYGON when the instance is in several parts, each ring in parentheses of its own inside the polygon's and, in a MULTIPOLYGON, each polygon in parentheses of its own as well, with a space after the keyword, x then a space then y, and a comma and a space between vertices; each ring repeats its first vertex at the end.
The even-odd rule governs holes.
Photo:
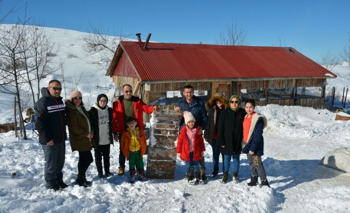
MULTIPOLYGON (((200 127, 198 133, 201 134, 207 126, 208 114, 203 100, 199 97, 196 97, 193 93, 193 86, 185 85, 182 90, 183 98, 179 102, 177 102, 174 110, 191 112, 194 118, 196 119, 196 124, 200 127)), ((185 125, 185 120, 182 118, 180 123, 180 129, 185 125)), ((201 160, 198 161, 198 163, 200 167, 199 169, 201 171, 202 180, 206 180, 207 178, 205 175, 204 156, 201 160)))

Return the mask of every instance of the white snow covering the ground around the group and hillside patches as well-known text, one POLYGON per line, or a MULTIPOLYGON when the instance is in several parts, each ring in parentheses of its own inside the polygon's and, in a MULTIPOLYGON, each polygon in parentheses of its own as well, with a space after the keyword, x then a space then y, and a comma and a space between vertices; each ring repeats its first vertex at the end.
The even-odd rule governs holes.
MULTIPOLYGON (((1 28, 1 27, 0 27, 1 28)), ((66 60, 66 91, 69 95, 75 74, 84 74, 78 86, 84 102, 93 104, 96 96, 105 93, 95 85, 109 85, 112 80, 105 71, 95 71, 83 62, 82 33, 46 28, 46 33, 60 45, 57 62, 66 60), (71 53, 77 57, 67 57, 71 53), (91 92, 90 92, 91 88, 91 92)), ((350 85, 350 68, 344 64, 334 70, 337 79, 328 86, 343 91, 350 85)), ((42 82, 60 80, 59 73, 42 82)), ((349 100, 350 94, 348 94, 349 100)), ((1 94, 0 123, 11 121, 13 97, 1 94)), ((347 104, 350 107, 350 104, 347 104)), ((89 107, 87 107, 89 108, 89 107)), ((268 105, 257 107, 268 119, 264 131, 263 161, 271 185, 248 187, 249 166, 241 155, 238 184, 220 182, 220 175, 204 185, 188 185, 183 180, 184 163, 177 161, 175 179, 150 179, 128 182, 129 175, 99 179, 95 163, 87 171, 93 180, 89 188, 74 185, 78 153, 70 151, 66 142, 63 179, 72 184, 61 192, 47 190, 44 181, 44 155, 37 139, 28 130, 28 140, 17 140, 14 132, 0 133, 0 212, 350 212, 350 174, 318 164, 324 154, 338 147, 350 147, 350 122, 335 121, 335 113, 299 106, 268 105), (12 173, 15 172, 15 176, 12 173)), ((12 119, 13 120, 13 119, 12 119)), ((30 128, 30 127, 28 127, 30 128)), ((212 166, 212 150, 206 143, 207 174, 212 166)), ((111 170, 117 172, 119 147, 111 148, 111 170)), ((144 156, 144 163, 147 155, 144 156)), ((145 165, 146 169, 146 165, 145 165)), ((232 168, 231 168, 232 169, 232 168)), ((221 173, 222 174, 222 173, 221 173)))

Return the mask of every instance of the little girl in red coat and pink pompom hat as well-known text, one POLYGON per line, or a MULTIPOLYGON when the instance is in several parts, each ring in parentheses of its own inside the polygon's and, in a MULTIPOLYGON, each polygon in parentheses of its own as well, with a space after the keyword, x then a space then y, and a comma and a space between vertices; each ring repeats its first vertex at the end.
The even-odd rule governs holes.
POLYGON ((194 184, 193 170, 196 174, 196 181, 203 183, 198 167, 198 161, 204 156, 205 151, 203 135, 197 134, 199 128, 192 113, 183 112, 183 118, 186 126, 180 130, 180 135, 177 139, 177 157, 186 162, 188 183, 194 184))

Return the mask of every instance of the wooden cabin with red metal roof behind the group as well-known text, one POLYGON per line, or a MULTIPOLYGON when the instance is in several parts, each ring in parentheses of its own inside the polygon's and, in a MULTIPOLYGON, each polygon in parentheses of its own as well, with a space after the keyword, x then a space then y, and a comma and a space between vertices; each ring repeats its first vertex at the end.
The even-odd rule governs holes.
MULTIPOLYGON (((207 101, 217 92, 257 105, 322 109, 326 79, 336 75, 292 47, 121 41, 107 71, 147 104, 174 109, 184 85, 207 101)), ((118 95, 118 94, 117 94, 118 95)), ((117 96, 116 95, 116 96, 117 96)))

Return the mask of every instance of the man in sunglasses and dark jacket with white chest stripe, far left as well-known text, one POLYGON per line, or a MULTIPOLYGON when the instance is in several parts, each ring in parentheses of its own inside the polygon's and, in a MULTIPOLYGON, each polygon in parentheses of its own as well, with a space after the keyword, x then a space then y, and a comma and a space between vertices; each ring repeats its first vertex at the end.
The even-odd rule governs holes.
POLYGON ((34 105, 35 128, 45 155, 45 181, 47 187, 55 191, 67 187, 62 173, 67 133, 61 90, 58 80, 50 81, 48 87, 41 89, 42 97, 34 105))

